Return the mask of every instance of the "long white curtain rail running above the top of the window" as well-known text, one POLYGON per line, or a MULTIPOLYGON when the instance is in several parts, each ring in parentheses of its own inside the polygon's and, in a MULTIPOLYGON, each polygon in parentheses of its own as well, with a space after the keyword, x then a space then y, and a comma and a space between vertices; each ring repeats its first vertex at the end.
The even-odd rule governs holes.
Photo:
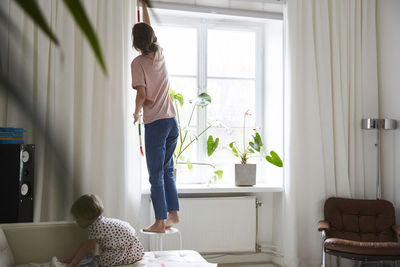
POLYGON ((253 17, 261 19, 276 19, 283 20, 282 13, 269 12, 269 11, 254 11, 254 10, 243 10, 236 8, 223 8, 223 7, 212 7, 212 6, 195 6, 188 4, 179 4, 171 2, 156 2, 153 1, 153 8, 159 9, 173 9, 179 11, 188 12, 200 12, 208 14, 220 14, 220 15, 231 15, 231 16, 241 16, 241 17, 253 17))

